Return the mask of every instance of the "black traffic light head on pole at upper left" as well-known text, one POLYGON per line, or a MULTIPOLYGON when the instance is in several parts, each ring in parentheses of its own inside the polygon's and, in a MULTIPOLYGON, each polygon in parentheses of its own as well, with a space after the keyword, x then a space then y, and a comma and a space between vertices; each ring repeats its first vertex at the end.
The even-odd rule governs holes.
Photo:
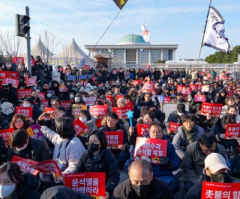
POLYGON ((16 35, 20 37, 25 37, 27 32, 30 30, 30 27, 26 25, 26 23, 30 20, 30 17, 26 15, 16 14, 15 16, 15 27, 16 27, 16 35))

